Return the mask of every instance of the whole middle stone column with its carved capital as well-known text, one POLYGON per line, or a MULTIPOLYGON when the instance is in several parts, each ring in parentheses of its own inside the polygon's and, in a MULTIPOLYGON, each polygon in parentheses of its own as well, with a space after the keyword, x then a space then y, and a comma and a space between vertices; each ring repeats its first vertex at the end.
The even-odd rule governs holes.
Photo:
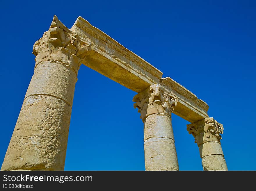
POLYGON ((154 84, 133 101, 144 122, 146 170, 179 170, 171 123, 178 99, 160 84, 154 84))

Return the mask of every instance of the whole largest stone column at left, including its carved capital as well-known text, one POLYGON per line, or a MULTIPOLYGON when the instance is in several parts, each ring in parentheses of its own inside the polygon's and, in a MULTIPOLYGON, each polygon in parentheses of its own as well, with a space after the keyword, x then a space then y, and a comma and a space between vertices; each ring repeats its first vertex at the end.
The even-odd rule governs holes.
POLYGON ((89 43, 56 16, 34 44, 35 70, 1 170, 63 170, 77 72, 89 43))

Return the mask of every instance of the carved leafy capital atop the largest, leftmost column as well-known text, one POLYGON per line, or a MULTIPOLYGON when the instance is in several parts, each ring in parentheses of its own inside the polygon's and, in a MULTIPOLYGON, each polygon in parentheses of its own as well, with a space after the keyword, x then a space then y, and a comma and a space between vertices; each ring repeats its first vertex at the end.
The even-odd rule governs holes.
POLYGON ((90 49, 90 41, 79 38, 62 24, 56 15, 48 31, 33 46, 35 67, 43 61, 57 61, 78 72, 81 62, 90 49))

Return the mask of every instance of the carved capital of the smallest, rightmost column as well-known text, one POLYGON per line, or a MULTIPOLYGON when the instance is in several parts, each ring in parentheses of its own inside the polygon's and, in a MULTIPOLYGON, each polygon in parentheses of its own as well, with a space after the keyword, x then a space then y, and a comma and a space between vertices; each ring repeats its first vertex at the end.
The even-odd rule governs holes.
POLYGON ((187 125, 187 131, 195 138, 195 143, 200 144, 218 141, 222 139, 223 125, 214 120, 213 117, 202 119, 198 122, 187 125))

